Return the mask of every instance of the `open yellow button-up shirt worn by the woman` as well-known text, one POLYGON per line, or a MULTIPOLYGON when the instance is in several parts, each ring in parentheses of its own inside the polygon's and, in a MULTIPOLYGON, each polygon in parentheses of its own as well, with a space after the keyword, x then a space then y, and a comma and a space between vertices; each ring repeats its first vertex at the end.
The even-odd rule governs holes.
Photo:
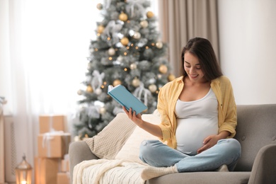
MULTIPOLYGON (((183 76, 164 85, 159 91, 157 109, 161 115, 162 142, 176 149, 176 100, 183 90, 183 76)), ((236 134, 236 103, 231 82, 226 76, 220 76, 212 80, 211 88, 214 91, 219 103, 218 124, 219 132, 224 130, 230 132, 229 138, 236 134)))

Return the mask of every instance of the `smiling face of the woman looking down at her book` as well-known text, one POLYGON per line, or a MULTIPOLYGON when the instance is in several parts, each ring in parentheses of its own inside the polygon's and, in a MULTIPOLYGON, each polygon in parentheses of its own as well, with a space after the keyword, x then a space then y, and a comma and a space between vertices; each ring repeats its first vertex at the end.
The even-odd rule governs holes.
POLYGON ((184 54, 184 69, 192 82, 206 81, 198 58, 190 52, 184 54))

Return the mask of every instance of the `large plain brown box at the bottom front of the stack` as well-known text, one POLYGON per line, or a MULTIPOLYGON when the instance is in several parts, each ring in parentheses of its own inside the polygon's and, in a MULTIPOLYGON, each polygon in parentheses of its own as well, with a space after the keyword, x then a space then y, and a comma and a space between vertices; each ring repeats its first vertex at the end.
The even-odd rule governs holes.
POLYGON ((60 159, 35 157, 35 184, 56 184, 60 159))

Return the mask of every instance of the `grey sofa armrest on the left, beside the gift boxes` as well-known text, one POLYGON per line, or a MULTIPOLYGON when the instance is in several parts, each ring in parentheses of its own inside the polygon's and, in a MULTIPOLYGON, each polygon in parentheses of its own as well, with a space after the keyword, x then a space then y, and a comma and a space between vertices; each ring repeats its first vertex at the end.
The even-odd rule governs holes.
POLYGON ((76 164, 81 161, 98 159, 92 152, 89 146, 84 141, 72 142, 69 146, 69 170, 70 178, 73 180, 73 170, 76 164))

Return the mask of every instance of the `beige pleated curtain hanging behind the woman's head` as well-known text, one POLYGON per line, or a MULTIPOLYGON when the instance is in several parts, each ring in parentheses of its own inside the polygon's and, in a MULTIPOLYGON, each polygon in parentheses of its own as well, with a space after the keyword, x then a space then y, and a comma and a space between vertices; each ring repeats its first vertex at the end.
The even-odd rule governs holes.
POLYGON ((168 42, 176 76, 182 75, 180 52, 190 38, 207 38, 219 58, 217 0, 159 0, 159 12, 162 39, 168 42))

